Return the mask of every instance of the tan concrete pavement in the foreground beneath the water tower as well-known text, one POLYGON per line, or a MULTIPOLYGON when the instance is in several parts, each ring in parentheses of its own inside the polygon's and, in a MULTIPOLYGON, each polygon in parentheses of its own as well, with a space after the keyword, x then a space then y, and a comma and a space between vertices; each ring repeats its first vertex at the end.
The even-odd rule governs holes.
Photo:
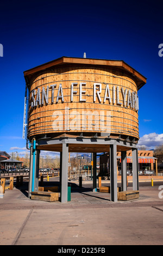
POLYGON ((27 183, 6 190, 0 199, 0 245, 162 245, 160 182, 140 185, 139 199, 117 203, 109 193, 92 192, 91 185, 72 182, 67 203, 30 200, 27 183))

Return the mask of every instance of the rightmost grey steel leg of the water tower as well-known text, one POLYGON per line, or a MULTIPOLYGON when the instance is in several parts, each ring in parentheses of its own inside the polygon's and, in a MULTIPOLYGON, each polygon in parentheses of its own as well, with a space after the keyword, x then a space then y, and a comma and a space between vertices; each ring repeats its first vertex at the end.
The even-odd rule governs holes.
POLYGON ((132 148, 133 159, 133 190, 139 190, 139 167, 137 149, 132 148))

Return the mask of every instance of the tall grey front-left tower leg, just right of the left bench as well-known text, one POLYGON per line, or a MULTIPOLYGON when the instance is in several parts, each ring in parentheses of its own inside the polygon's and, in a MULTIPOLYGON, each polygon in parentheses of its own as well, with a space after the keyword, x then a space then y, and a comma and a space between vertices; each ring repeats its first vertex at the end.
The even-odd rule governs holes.
POLYGON ((68 190, 68 144, 62 143, 62 160, 61 160, 61 203, 67 202, 68 190))

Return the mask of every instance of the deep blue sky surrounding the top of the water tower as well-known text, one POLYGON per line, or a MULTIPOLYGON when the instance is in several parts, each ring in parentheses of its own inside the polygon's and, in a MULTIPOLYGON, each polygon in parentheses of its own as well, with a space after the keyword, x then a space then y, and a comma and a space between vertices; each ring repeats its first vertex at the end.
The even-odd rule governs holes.
POLYGON ((140 144, 163 144, 161 1, 1 2, 0 150, 18 151, 22 139, 23 71, 61 56, 124 60, 147 77, 139 90, 140 144))

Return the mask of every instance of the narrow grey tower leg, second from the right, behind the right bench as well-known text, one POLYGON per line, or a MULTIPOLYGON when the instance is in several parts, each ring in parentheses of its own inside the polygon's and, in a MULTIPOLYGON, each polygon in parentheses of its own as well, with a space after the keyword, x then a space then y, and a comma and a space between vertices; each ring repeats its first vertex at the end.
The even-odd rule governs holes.
POLYGON ((127 191, 127 157, 126 157, 126 151, 121 151, 121 183, 122 183, 122 191, 127 191))

